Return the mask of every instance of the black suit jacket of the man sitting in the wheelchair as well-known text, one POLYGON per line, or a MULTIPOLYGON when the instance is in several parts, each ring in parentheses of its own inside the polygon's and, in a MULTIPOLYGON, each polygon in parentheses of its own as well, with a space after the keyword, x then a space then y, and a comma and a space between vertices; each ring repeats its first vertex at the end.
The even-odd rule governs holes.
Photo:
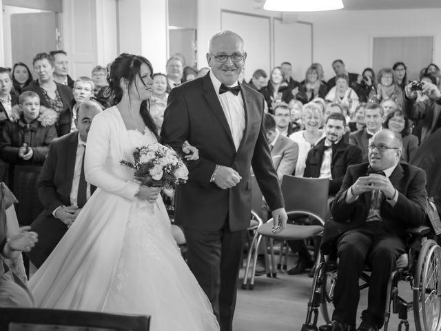
MULTIPOLYGON (((368 192, 360 194, 352 203, 346 202, 346 194, 358 177, 366 176, 368 165, 369 163, 361 163, 348 168, 342 187, 331 203, 333 219, 325 224, 322 237, 322 251, 325 254, 329 252, 340 234, 357 228, 367 219, 371 194, 368 192)), ((389 232, 404 235, 408 228, 416 228, 424 222, 427 206, 426 173, 413 165, 398 163, 389 179, 393 187, 398 190, 398 201, 392 207, 383 200, 380 214, 389 232)))

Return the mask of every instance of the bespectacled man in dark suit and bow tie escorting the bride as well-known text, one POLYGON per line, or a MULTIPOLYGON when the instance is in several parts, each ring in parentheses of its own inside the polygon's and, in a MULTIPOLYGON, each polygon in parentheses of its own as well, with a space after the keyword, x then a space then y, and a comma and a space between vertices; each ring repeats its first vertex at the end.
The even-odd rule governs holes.
POLYGON ((181 151, 188 141, 200 158, 176 190, 176 223, 187 239, 187 261, 212 302, 220 330, 232 330, 238 271, 251 210, 254 174, 272 210, 274 230, 287 221, 282 192, 263 128, 264 99, 238 83, 245 64, 243 39, 215 34, 207 53, 211 71, 174 88, 161 136, 181 151))

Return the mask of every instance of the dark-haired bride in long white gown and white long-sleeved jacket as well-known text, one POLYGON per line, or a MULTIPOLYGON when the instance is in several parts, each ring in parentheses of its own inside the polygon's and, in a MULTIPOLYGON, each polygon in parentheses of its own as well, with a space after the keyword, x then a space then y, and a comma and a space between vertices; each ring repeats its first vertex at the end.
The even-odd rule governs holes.
POLYGON ((137 146, 157 141, 142 101, 152 65, 121 54, 110 68, 114 104, 94 117, 85 153, 96 192, 30 280, 39 308, 147 314, 151 330, 219 330, 212 306, 181 257, 159 188, 132 180, 137 146))

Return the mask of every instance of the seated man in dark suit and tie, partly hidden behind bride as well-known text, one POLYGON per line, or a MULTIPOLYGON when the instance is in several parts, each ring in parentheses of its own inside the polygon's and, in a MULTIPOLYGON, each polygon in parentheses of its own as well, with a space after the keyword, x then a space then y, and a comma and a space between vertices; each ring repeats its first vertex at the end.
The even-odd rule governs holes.
POLYGON ((81 103, 75 119, 78 131, 54 139, 50 145, 37 181, 45 209, 31 224, 32 231, 39 234, 39 242, 27 253, 37 268, 49 257, 94 191, 85 182, 83 158, 90 124, 99 112, 99 103, 81 103))

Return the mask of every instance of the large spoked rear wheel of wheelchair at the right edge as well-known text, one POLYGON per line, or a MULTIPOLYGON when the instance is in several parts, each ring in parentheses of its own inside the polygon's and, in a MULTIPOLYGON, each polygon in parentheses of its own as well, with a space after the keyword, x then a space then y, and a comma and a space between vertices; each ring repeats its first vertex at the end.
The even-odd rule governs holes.
POLYGON ((441 247, 433 240, 424 243, 413 288, 416 330, 441 330, 441 247))

